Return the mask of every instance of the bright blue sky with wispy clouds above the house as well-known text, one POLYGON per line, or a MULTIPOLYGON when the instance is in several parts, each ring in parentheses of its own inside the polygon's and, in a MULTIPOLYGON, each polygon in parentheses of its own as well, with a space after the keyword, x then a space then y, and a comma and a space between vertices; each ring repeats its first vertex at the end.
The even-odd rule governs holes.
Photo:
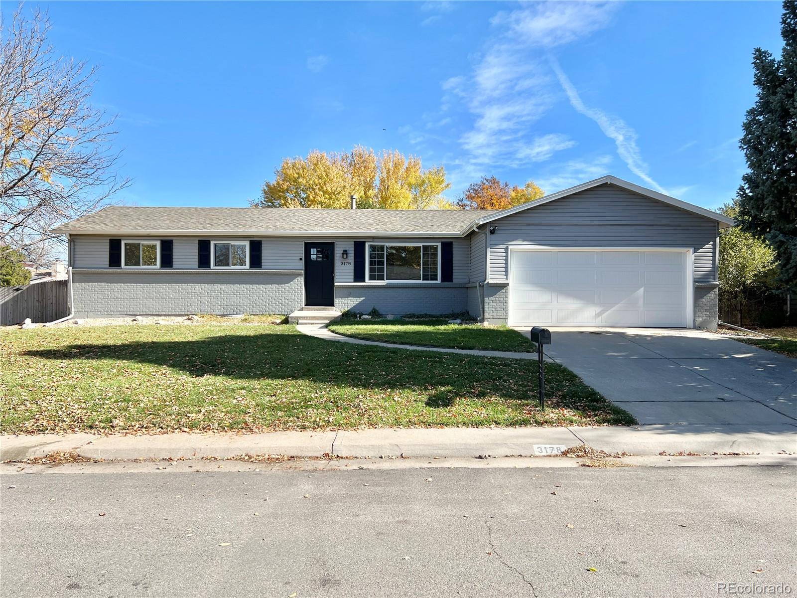
POLYGON ((779 2, 39 6, 57 52, 101 66, 137 205, 245 206, 284 157, 362 144, 444 165, 451 199, 611 173, 716 208, 752 49, 781 47, 779 2))

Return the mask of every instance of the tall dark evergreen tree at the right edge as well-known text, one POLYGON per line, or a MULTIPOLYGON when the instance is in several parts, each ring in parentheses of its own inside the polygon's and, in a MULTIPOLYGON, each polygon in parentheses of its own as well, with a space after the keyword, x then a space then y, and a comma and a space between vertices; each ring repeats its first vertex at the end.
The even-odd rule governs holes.
POLYGON ((756 104, 740 148, 748 172, 739 187, 742 230, 765 238, 780 262, 780 281, 797 286, 797 2, 783 2, 783 52, 753 52, 756 104))

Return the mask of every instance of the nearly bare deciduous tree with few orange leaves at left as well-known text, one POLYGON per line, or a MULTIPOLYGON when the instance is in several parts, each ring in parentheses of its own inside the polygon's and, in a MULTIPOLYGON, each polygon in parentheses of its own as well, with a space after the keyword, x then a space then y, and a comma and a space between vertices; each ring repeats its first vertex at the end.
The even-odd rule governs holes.
POLYGON ((48 230, 126 187, 116 174, 113 118, 89 103, 96 68, 53 54, 50 24, 22 6, 0 21, 0 245, 44 266, 48 230))

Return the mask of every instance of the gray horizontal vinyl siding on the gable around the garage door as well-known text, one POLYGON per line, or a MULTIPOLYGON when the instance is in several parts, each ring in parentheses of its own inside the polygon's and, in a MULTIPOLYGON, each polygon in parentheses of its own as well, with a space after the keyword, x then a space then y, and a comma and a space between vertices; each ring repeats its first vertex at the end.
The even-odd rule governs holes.
POLYGON ((490 280, 506 281, 508 248, 691 247, 695 281, 715 281, 717 222, 602 185, 492 222, 490 280))

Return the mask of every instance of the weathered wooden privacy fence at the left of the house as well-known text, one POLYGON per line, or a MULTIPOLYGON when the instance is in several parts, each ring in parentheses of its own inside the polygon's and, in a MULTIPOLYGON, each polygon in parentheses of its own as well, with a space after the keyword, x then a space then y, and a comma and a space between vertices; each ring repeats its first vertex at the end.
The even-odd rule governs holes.
POLYGON ((0 325, 51 322, 69 315, 67 281, 35 282, 33 285, 0 287, 0 325))

